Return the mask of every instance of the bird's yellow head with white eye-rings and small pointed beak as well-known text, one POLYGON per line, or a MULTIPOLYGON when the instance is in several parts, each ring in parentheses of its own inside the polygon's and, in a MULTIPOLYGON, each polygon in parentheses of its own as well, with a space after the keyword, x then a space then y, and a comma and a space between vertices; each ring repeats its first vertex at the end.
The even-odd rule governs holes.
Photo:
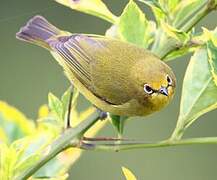
POLYGON ((137 90, 135 98, 149 112, 158 111, 165 107, 173 98, 176 78, 169 66, 157 61, 149 67, 137 67, 137 90))

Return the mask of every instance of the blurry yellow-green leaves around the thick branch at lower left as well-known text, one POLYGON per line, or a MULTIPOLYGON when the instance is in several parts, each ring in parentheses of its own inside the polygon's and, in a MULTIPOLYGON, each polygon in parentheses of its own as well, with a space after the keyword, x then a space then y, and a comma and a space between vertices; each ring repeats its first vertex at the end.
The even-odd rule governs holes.
MULTIPOLYGON (((69 93, 67 90, 61 100, 55 95, 48 95, 49 107, 43 105, 39 108, 38 119, 32 121, 25 117, 14 107, 0 101, 0 177, 2 179, 16 179, 19 175, 41 159, 49 150, 53 142, 64 128, 62 112, 67 114, 69 93), (61 112, 61 113, 60 113, 61 112), (61 115, 61 116, 60 116, 61 115), (12 178, 13 177, 13 178, 12 178)), ((74 112, 77 112, 76 99, 78 93, 73 93, 74 112)), ((84 121, 95 111, 88 108, 76 114, 73 126, 84 121)), ((106 121, 97 122, 86 135, 94 136, 106 121)), ((77 161, 82 154, 78 148, 68 148, 43 166, 32 179, 47 177, 46 179, 66 179, 69 167, 77 161)))

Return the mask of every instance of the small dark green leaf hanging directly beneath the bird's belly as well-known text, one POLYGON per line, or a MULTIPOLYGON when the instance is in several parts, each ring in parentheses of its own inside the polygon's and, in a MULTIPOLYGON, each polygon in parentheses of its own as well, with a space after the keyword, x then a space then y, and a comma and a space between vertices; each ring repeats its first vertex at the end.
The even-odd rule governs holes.
POLYGON ((119 137, 123 135, 124 132, 124 125, 128 117, 125 116, 117 116, 110 114, 111 123, 114 126, 114 128, 117 130, 119 137))

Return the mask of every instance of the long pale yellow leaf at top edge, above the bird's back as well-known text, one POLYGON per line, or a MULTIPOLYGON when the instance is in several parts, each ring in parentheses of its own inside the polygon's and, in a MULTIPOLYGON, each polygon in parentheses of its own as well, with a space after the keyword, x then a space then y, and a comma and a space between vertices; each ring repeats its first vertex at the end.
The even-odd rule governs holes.
POLYGON ((116 23, 117 17, 111 13, 101 0, 55 0, 71 9, 91 14, 111 23, 116 23))

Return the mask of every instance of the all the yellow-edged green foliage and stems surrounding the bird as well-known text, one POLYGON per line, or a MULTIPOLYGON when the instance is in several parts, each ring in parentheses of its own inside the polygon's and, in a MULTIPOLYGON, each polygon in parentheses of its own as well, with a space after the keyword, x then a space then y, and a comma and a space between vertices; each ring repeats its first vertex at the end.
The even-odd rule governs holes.
MULTIPOLYGON (((73 10, 110 22, 111 27, 106 31, 106 36, 149 49, 163 61, 175 60, 179 56, 193 52, 183 82, 177 126, 169 140, 157 143, 130 144, 128 141, 127 146, 124 142, 115 142, 111 146, 81 144, 84 133, 88 137, 93 137, 106 121, 87 121, 93 118, 95 108, 89 107, 79 112, 79 93, 76 89, 73 89, 70 109, 73 128, 69 130, 76 135, 68 133, 67 130, 63 132, 69 114, 68 105, 72 88, 69 88, 60 99, 49 93, 48 105, 43 105, 39 109, 39 117, 35 121, 28 119, 5 102, 0 102, 1 178, 22 179, 20 177, 31 176, 31 179, 66 179, 67 170, 82 154, 81 149, 77 147, 116 151, 217 143, 216 137, 181 139, 184 131, 201 115, 217 108, 217 30, 203 28, 201 32, 194 31, 195 24, 215 9, 215 0, 138 0, 151 8, 155 21, 149 20, 133 0, 129 0, 120 17, 114 15, 101 0, 56 1, 73 10), (93 128, 90 128, 93 124, 93 128), (61 144, 62 140, 67 144, 61 144), (42 166, 45 163, 47 164, 42 166)), ((126 118, 110 115, 110 120, 121 135, 126 118)), ((123 173, 126 179, 136 179, 126 168, 123 168, 123 173)))

